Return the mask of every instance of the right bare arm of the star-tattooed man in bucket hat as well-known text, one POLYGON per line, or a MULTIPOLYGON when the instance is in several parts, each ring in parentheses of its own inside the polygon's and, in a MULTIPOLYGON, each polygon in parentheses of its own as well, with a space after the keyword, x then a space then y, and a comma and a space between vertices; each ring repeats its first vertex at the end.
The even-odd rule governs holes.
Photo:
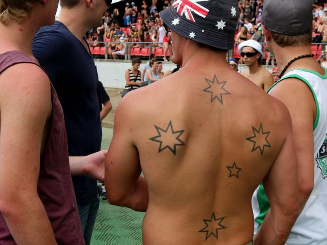
POLYGON ((285 106, 281 119, 286 134, 282 149, 263 183, 270 201, 270 210, 258 231, 254 244, 284 244, 298 216, 298 172, 292 138, 291 118, 285 106))

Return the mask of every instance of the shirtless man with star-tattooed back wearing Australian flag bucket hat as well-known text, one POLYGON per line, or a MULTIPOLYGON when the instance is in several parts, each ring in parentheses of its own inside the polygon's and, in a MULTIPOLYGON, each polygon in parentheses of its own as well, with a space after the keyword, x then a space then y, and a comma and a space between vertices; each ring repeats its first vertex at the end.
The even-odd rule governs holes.
POLYGON ((298 214, 290 115, 226 63, 236 0, 198 5, 206 18, 193 14, 195 22, 174 7, 160 13, 182 68, 128 93, 117 108, 109 202, 146 211, 143 244, 252 244, 251 197, 264 180, 272 209, 258 236, 284 244, 298 214))

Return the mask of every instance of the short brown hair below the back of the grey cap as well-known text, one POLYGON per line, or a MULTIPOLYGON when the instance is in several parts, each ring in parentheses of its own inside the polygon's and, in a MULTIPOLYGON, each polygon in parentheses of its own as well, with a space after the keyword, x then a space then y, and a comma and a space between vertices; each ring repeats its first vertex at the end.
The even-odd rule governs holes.
POLYGON ((311 33, 305 33, 302 35, 284 35, 273 31, 271 37, 275 43, 280 47, 296 46, 296 45, 310 45, 312 41, 311 33))

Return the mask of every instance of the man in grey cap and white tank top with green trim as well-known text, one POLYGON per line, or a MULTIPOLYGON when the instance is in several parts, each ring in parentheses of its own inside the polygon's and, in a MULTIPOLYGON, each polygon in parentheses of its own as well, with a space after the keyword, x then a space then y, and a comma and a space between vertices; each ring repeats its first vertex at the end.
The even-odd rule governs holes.
MULTIPOLYGON (((327 244, 327 73, 311 54, 312 1, 266 0, 262 24, 281 68, 281 78, 268 92, 290 111, 298 159, 294 171, 301 213, 286 244, 327 244)), ((253 198, 255 231, 269 208, 268 199, 260 186, 253 198)))

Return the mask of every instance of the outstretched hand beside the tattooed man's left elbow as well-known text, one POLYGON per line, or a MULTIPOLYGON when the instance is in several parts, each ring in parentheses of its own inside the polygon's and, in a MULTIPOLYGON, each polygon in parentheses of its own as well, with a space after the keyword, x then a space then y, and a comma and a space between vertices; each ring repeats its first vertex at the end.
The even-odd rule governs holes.
POLYGON ((85 175, 99 181, 105 181, 106 155, 107 151, 100 151, 86 156, 85 175))

